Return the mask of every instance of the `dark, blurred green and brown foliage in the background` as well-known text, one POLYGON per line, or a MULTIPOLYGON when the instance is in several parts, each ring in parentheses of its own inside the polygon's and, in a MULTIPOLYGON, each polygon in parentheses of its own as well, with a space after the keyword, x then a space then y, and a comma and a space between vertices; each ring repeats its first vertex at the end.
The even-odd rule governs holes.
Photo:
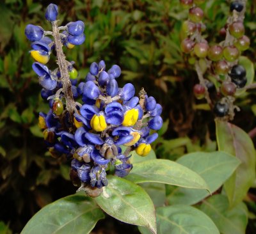
MULTIPOLYGON (((202 8, 208 42, 224 40, 229 2, 207 0, 202 8)), ((188 10, 179 0, 1 0, 0 3, 0 233, 20 233, 26 222, 48 203, 76 192, 69 179, 65 157, 53 159, 38 128, 38 113, 49 105, 40 97, 38 78, 31 65, 31 49, 24 29, 27 24, 51 30, 44 19, 49 3, 58 4, 60 24, 83 20, 86 41, 64 49, 76 62, 83 80, 93 61, 106 61, 107 68, 122 68, 119 85, 132 82, 143 87, 163 105, 163 129, 154 144, 158 158, 175 160, 195 151, 216 150, 214 114, 204 110, 204 100, 195 100, 198 82, 193 65, 180 51, 180 27, 188 10)), ((244 52, 255 63, 256 1, 248 1, 245 27, 251 49, 244 52)), ((50 62, 54 68, 54 59, 50 62)), ((234 123, 249 132, 256 126, 255 91, 237 99, 241 112, 234 123), (244 118, 246 116, 246 118, 244 118)), ((256 200, 255 190, 250 191, 256 200)), ((255 230, 255 203, 248 202, 252 219, 248 233, 255 230)), ((93 233, 137 233, 136 227, 108 217, 93 233)))

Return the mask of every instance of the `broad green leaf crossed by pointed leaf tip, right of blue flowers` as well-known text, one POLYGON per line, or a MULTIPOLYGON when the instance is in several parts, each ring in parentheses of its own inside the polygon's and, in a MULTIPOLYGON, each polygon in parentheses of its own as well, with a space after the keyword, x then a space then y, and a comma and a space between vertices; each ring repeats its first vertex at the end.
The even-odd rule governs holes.
MULTIPOLYGON (((216 191, 240 164, 238 159, 225 152, 189 153, 180 157, 177 162, 202 176, 211 193, 216 191)), ((204 190, 173 187, 168 201, 170 204, 193 205, 207 196, 209 193, 204 190)))

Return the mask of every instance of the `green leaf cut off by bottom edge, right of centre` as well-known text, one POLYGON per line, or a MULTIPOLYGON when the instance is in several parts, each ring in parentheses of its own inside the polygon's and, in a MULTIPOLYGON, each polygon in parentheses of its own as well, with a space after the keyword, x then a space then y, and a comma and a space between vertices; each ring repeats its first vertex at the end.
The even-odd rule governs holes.
POLYGON ((202 211, 186 205, 157 208, 158 234, 218 234, 214 222, 202 211))

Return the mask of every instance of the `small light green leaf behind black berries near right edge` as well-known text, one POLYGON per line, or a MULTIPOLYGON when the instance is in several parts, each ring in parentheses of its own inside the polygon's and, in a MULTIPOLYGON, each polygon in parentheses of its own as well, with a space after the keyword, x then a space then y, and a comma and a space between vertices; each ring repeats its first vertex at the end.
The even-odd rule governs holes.
MULTIPOLYGON (((248 59, 246 56, 240 56, 238 63, 239 63, 239 65, 242 65, 246 70, 246 78, 247 78, 246 86, 249 84, 252 84, 252 82, 254 80, 254 73, 255 73, 254 65, 253 65, 252 61, 250 59, 248 59)), ((245 88, 241 88, 236 91, 236 95, 237 96, 241 95, 245 91, 246 91, 245 88)))

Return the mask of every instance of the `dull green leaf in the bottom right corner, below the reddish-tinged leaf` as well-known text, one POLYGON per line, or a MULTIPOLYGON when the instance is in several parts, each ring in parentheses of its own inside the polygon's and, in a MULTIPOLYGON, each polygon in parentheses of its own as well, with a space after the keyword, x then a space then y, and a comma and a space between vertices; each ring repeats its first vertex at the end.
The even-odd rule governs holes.
POLYGON ((232 209, 226 196, 216 194, 203 201, 200 210, 211 217, 223 234, 244 234, 248 223, 248 210, 244 203, 232 209))

